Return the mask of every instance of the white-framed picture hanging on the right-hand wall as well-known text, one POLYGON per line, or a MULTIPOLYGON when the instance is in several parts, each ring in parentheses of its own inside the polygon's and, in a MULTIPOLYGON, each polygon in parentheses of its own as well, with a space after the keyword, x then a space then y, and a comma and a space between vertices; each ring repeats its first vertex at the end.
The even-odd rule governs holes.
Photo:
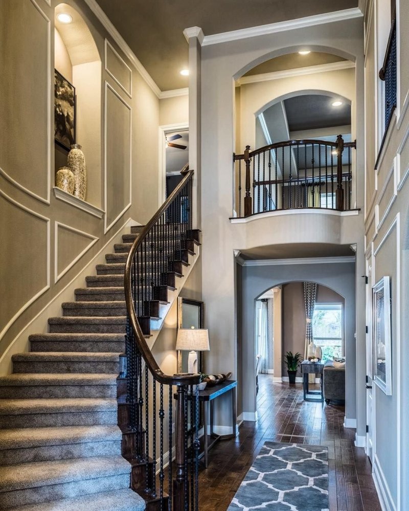
POLYGON ((392 395, 391 282, 382 277, 373 293, 373 362, 374 382, 387 395, 392 395))

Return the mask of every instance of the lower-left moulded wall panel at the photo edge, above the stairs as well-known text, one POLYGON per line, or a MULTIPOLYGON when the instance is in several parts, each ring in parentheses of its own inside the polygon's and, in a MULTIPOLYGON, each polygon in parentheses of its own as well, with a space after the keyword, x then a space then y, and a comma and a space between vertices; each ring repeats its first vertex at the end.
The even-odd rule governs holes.
POLYGON ((0 340, 50 287, 50 220, 0 190, 0 340), (35 249, 34 249, 35 247, 35 249))

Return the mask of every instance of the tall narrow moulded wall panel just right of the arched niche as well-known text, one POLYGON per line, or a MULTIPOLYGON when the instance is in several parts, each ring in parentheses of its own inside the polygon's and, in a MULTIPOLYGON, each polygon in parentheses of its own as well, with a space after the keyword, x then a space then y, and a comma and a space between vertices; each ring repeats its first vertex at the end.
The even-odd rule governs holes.
POLYGON ((105 82, 105 232, 131 205, 131 107, 105 82))

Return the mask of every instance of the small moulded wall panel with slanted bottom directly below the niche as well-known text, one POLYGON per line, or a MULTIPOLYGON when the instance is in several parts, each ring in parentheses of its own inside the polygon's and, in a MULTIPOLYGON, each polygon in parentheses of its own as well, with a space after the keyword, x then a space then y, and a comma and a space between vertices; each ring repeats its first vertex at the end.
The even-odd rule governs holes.
POLYGON ((54 281, 57 282, 99 238, 59 222, 55 222, 54 229, 54 281))

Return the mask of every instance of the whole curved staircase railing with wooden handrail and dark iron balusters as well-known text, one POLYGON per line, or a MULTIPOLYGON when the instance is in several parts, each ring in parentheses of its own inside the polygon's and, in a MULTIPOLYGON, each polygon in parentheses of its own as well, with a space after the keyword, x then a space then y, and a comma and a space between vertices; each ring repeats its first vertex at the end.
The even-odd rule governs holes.
POLYGON ((146 342, 150 335, 150 318, 158 317, 161 303, 167 303, 168 288, 174 287, 175 275, 182 273, 190 243, 196 238, 197 231, 192 230, 193 170, 186 166, 181 173, 181 182, 134 240, 125 266, 128 424, 135 433, 135 458, 144 466, 142 493, 148 498, 157 498, 161 511, 171 511, 172 506, 174 511, 198 511, 197 384, 200 375, 165 374, 146 342), (174 386, 177 399, 173 448, 174 386), (164 405, 166 397, 167 407, 164 405))

